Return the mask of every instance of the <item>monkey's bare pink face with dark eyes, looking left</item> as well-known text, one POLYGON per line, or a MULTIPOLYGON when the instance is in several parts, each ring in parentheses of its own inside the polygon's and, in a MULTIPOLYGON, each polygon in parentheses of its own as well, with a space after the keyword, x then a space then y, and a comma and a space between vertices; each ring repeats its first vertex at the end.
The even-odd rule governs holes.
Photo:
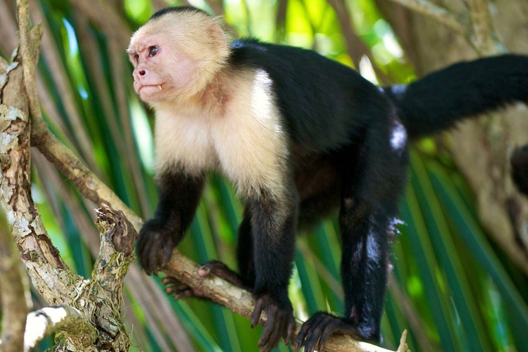
POLYGON ((134 66, 134 90, 144 102, 173 98, 190 82, 192 61, 160 36, 131 43, 129 58, 134 66))

